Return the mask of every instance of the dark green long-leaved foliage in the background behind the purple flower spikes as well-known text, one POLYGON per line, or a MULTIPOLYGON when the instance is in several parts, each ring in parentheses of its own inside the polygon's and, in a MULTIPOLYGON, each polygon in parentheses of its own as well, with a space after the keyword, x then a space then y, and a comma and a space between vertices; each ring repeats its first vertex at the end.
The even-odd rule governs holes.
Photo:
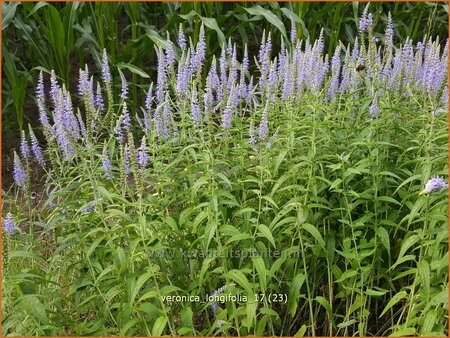
MULTIPOLYGON (((79 66, 100 64, 106 48, 115 67, 127 69, 127 79, 139 86, 155 74, 154 46, 165 47, 181 24, 188 36, 206 27, 207 57, 232 37, 242 53, 245 43, 255 53, 263 30, 271 31, 274 50, 281 39, 289 44, 291 22, 299 37, 315 39, 324 30, 331 53, 339 40, 353 42, 357 21, 366 3, 359 2, 3 2, 3 121, 22 129, 36 116, 34 87, 37 72, 55 69, 62 80, 76 85, 79 66), (132 65, 132 67, 131 67, 132 65), (30 76, 31 75, 31 76, 30 76), (145 77, 145 76, 144 76, 145 77), (28 93, 28 95, 26 95, 28 93)), ((445 2, 376 2, 370 4, 379 36, 392 13, 395 42, 426 35, 448 36, 445 2)), ((193 41, 194 43, 196 41, 193 41)), ((116 74, 117 75, 117 74, 116 74)), ((131 93, 132 108, 143 98, 131 93)), ((117 90, 117 88, 116 88, 117 90)))

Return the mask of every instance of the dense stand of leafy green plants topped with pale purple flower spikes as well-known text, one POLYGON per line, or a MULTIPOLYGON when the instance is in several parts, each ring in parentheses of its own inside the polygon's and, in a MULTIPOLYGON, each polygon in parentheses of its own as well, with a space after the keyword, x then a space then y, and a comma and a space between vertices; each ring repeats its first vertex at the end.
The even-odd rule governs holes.
POLYGON ((4 334, 447 334, 448 42, 396 48, 388 18, 379 41, 366 7, 332 55, 293 25, 277 55, 264 33, 211 63, 180 27, 139 111, 106 50, 76 94, 41 72, 45 150, 22 134, 4 194, 4 334))

